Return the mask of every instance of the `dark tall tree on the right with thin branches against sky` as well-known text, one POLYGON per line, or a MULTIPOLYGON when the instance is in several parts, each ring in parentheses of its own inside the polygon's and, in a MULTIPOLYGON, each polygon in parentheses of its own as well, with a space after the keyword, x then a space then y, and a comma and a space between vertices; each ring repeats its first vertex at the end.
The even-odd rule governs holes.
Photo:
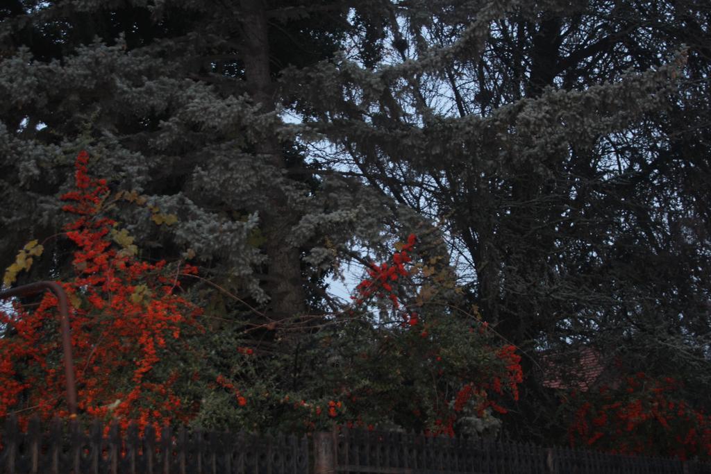
POLYGON ((592 346, 609 367, 685 379, 685 396, 703 403, 707 186, 691 183, 709 181, 697 126, 708 117, 708 7, 390 10, 390 43, 370 65, 344 57, 289 82, 343 166, 443 222, 470 303, 530 355, 525 429, 512 431, 561 433, 544 350, 574 377, 576 354, 592 346), (321 92, 334 84, 345 102, 321 92))

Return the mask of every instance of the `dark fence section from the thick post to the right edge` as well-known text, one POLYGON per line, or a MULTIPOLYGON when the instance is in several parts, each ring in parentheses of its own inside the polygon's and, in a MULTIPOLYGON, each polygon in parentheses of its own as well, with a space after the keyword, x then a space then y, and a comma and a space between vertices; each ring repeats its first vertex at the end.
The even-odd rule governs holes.
POLYGON ((316 473, 711 474, 711 464, 407 433, 316 433, 316 473))

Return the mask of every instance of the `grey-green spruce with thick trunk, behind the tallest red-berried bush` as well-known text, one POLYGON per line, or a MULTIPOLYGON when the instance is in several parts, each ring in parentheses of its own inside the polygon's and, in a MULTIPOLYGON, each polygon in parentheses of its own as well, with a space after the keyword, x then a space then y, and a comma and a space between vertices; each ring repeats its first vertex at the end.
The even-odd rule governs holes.
MULTIPOLYGON (((187 262, 200 267, 199 279, 181 278, 205 309, 208 331, 191 352, 200 357, 176 363, 205 377, 203 389, 234 375, 255 394, 272 393, 264 413, 274 423, 283 415, 277 394, 326 397, 333 387, 321 364, 301 362, 333 355, 344 337, 328 326, 345 305, 325 291, 324 277, 341 261, 368 264, 411 232, 432 231, 357 177, 311 163, 306 137, 321 137, 283 119, 293 107, 280 77, 319 68, 345 47, 355 29, 345 4, 18 1, 2 14, 0 193, 8 212, 0 222, 13 230, 0 236, 2 259, 13 262, 30 239, 45 247, 9 283, 71 278, 58 196, 86 150, 92 175, 108 180, 102 210, 125 227, 121 242, 132 239, 141 259, 166 259, 176 275, 187 262), (333 340, 326 349, 324 333, 333 340), (261 371, 248 370, 237 350, 245 347, 259 353, 261 371)), ((389 337, 359 335, 353 347, 361 349, 389 337)), ((191 394, 204 402, 196 422, 255 428, 230 412, 234 400, 223 389, 191 394)), ((254 408, 252 416, 265 415, 254 408)))

